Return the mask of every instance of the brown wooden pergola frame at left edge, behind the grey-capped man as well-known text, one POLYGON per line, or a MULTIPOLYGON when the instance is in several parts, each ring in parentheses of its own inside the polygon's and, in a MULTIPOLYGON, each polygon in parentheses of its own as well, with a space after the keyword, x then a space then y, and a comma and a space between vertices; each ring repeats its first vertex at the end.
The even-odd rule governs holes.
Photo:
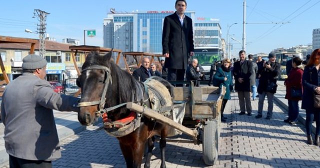
MULTIPOLYGON (((32 38, 20 38, 20 37, 11 37, 11 36, 2 36, 0 35, 0 43, 30 43, 30 53, 34 53, 34 45, 37 42, 37 39, 32 38)), ((4 80, 0 81, 0 85, 9 83, 8 75, 5 72, 4 64, 2 61, 2 57, 0 56, 0 68, 4 77, 4 80)), ((0 96, 2 96, 2 93, 4 91, 4 88, 0 88, 0 96)))

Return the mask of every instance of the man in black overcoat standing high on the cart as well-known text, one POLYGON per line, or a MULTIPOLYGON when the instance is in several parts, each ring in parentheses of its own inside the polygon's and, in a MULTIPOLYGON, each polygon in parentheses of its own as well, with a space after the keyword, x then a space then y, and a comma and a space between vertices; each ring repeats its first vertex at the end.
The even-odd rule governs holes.
POLYGON ((184 80, 188 56, 194 55, 192 19, 184 14, 186 0, 175 1, 176 11, 164 17, 162 54, 168 80, 184 80), (189 54, 189 55, 188 55, 189 54))

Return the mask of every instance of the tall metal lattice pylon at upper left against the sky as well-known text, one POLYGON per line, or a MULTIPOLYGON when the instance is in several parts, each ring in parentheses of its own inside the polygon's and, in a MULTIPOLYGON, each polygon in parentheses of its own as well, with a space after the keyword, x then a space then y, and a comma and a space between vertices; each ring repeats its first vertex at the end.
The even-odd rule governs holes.
POLYGON ((42 11, 40 9, 34 9, 33 17, 38 17, 40 24, 37 24, 37 32, 39 33, 39 54, 40 56, 44 57, 45 53, 45 32, 46 32, 46 15, 50 14, 48 12, 42 11))

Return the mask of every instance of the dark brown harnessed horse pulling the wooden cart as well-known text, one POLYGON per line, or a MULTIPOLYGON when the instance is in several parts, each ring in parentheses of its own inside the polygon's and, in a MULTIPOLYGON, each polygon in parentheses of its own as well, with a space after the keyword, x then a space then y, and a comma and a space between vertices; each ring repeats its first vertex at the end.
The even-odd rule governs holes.
MULTIPOLYGON (((96 52, 90 52, 82 65, 81 74, 76 79, 82 91, 78 120, 82 125, 90 125, 102 115, 104 130, 111 134, 112 131, 116 132, 112 135, 119 141, 127 167, 141 166, 145 144, 147 153, 144 167, 150 167, 154 135, 160 136, 160 167, 166 167, 164 151, 166 137, 171 127, 136 114, 125 107, 125 103, 130 101, 147 107, 151 107, 152 102, 148 98, 149 91, 146 90, 146 85, 135 80, 127 71, 120 69, 111 59, 111 53, 112 51, 101 56, 96 52), (129 125, 127 120, 131 120, 130 126, 127 126, 129 125), (119 132, 123 127, 125 130, 119 132)), ((152 77, 165 86, 165 91, 172 99, 173 86, 161 77, 152 77)))

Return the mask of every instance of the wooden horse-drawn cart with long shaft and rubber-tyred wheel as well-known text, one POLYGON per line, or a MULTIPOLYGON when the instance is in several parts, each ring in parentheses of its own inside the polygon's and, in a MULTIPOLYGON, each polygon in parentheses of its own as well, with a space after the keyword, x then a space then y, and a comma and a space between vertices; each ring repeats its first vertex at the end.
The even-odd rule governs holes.
MULTIPOLYGON (((171 81, 177 83, 181 81, 171 81)), ((202 144, 202 157, 207 165, 215 164, 218 157, 220 107, 225 93, 225 87, 203 86, 193 87, 192 82, 188 87, 174 87, 174 103, 186 102, 184 118, 192 118, 197 124, 191 129, 179 124, 156 111, 145 108, 135 103, 128 103, 127 108, 143 113, 158 122, 168 124, 192 137, 192 140, 178 140, 179 142, 193 142, 202 144)), ((167 139, 167 141, 176 141, 167 139)))

